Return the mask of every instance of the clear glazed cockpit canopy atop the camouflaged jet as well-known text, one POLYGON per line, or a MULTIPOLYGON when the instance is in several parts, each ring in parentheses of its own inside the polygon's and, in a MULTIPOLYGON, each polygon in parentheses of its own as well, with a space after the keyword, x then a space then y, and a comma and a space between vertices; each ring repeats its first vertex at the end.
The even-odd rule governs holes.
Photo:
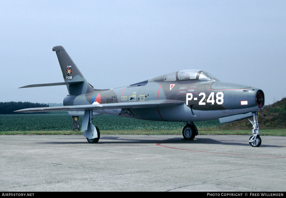
MULTIPOLYGON (((202 81, 210 81, 211 79, 217 79, 214 76, 210 75, 207 72, 202 70, 182 70, 178 72, 179 80, 194 80, 197 79, 202 81)), ((176 72, 166 74, 164 77, 164 81, 176 81, 176 72)))

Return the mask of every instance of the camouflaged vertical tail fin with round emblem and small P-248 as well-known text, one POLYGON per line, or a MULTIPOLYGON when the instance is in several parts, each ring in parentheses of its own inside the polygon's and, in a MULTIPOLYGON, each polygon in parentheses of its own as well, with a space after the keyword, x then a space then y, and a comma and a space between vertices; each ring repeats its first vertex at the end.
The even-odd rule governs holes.
POLYGON ((65 51, 65 48, 63 46, 55 46, 53 51, 57 54, 65 82, 80 82, 67 85, 69 94, 80 95, 92 92, 93 87, 86 81, 72 58, 65 51))

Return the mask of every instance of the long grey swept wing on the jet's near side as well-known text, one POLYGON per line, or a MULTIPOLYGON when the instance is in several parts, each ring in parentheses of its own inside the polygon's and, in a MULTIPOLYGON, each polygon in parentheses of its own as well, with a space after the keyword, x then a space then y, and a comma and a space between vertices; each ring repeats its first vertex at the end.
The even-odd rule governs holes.
POLYGON ((49 112, 49 111, 85 111, 85 110, 100 110, 100 109, 140 109, 140 108, 170 107, 181 104, 184 104, 184 102, 179 100, 152 100, 152 101, 94 104, 94 105, 27 108, 27 109, 20 109, 15 112, 35 113, 35 112, 49 112))

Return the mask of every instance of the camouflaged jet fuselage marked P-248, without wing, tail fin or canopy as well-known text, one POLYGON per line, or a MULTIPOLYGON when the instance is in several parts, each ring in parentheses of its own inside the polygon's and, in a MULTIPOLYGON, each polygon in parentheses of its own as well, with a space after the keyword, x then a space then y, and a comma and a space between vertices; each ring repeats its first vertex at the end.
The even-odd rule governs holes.
MULTIPOLYGON (((200 73, 200 72, 198 72, 200 73)), ((164 75, 142 81, 126 87, 95 90, 82 95, 65 97, 64 105, 86 105, 105 103, 124 103, 132 101, 153 101, 160 99, 183 101, 184 105, 161 108, 144 108, 130 110, 120 116, 154 121, 204 121, 220 117, 259 111, 257 94, 263 95, 260 89, 210 81, 189 79, 164 81, 164 75)), ((122 109, 94 110, 94 115, 119 115, 122 109)), ((69 111, 70 115, 83 115, 84 111, 69 111)))

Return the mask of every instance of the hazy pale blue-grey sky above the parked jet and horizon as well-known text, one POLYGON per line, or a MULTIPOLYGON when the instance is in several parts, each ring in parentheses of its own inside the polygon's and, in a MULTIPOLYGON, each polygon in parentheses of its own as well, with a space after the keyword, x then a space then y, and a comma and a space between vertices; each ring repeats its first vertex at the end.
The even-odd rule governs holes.
POLYGON ((286 97, 285 1, 0 1, 0 101, 62 103, 61 45, 96 89, 201 69, 286 97))

